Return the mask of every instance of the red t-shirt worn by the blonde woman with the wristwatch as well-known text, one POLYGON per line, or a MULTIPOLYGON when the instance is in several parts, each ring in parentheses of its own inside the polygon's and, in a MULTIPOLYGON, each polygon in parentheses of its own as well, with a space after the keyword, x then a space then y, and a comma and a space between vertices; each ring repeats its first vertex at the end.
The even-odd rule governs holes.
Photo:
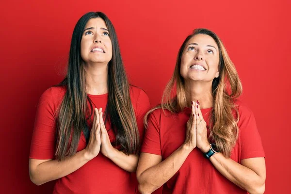
MULTIPOLYGON (((242 159, 265 157, 261 138, 253 113, 241 102, 237 102, 240 120, 239 137, 231 152, 231 159, 240 163, 242 159)), ((209 113, 211 108, 202 109, 207 122, 209 135, 209 113)), ((169 111, 155 110, 149 115, 148 128, 145 132, 141 151, 169 157, 185 142, 186 123, 191 113, 190 108, 171 115, 169 111)), ((178 172, 163 185, 163 194, 247 194, 234 183, 226 179, 205 158, 199 148, 195 148, 182 164, 178 172)))

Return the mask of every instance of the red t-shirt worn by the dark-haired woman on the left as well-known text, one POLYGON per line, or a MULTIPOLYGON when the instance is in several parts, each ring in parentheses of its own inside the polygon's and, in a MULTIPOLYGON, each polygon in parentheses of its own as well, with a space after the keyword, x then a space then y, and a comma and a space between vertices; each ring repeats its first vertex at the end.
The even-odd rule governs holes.
MULTIPOLYGON (((36 112, 32 135, 30 158, 54 159, 56 146, 56 111, 65 96, 65 87, 51 87, 41 96, 36 112)), ((93 106, 104 111, 108 94, 89 95, 93 106)), ((141 141, 144 136, 143 119, 150 103, 146 93, 130 87, 130 98, 136 115, 141 141)), ((95 108, 95 107, 94 107, 95 108)), ((92 115, 93 121, 93 115, 92 115)), ((91 129, 92 126, 89 126, 91 129)), ((107 122, 106 129, 111 129, 107 122)), ((108 131, 111 142, 115 140, 113 130, 108 131)), ((86 147, 86 140, 81 133, 77 152, 86 147)), ((136 180, 131 173, 123 170, 101 152, 75 172, 56 180, 54 194, 134 194, 136 180)))

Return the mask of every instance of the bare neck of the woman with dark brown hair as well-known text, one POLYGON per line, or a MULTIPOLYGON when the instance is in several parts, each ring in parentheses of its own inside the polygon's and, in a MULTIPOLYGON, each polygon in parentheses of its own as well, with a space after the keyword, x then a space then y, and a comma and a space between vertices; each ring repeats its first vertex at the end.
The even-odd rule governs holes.
POLYGON ((85 64, 86 92, 92 95, 108 93, 108 64, 85 64))

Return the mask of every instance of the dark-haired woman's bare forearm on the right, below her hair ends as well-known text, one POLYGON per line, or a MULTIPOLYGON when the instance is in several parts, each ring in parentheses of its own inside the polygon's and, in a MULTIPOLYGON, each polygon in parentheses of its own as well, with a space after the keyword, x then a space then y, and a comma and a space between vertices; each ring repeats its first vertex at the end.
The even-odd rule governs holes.
POLYGON ((112 162, 114 162, 120 168, 128 171, 128 172, 135 172, 138 163, 138 155, 130 154, 126 155, 122 151, 118 149, 113 149, 113 152, 109 154, 108 157, 112 162))

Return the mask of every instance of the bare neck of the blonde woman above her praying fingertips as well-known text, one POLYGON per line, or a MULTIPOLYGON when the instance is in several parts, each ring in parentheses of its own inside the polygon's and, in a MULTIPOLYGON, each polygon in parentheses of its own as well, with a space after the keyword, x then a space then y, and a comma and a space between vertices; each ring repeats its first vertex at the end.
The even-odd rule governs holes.
POLYGON ((191 107, 191 101, 197 100, 201 109, 213 106, 212 82, 185 81, 185 93, 188 107, 191 107))

